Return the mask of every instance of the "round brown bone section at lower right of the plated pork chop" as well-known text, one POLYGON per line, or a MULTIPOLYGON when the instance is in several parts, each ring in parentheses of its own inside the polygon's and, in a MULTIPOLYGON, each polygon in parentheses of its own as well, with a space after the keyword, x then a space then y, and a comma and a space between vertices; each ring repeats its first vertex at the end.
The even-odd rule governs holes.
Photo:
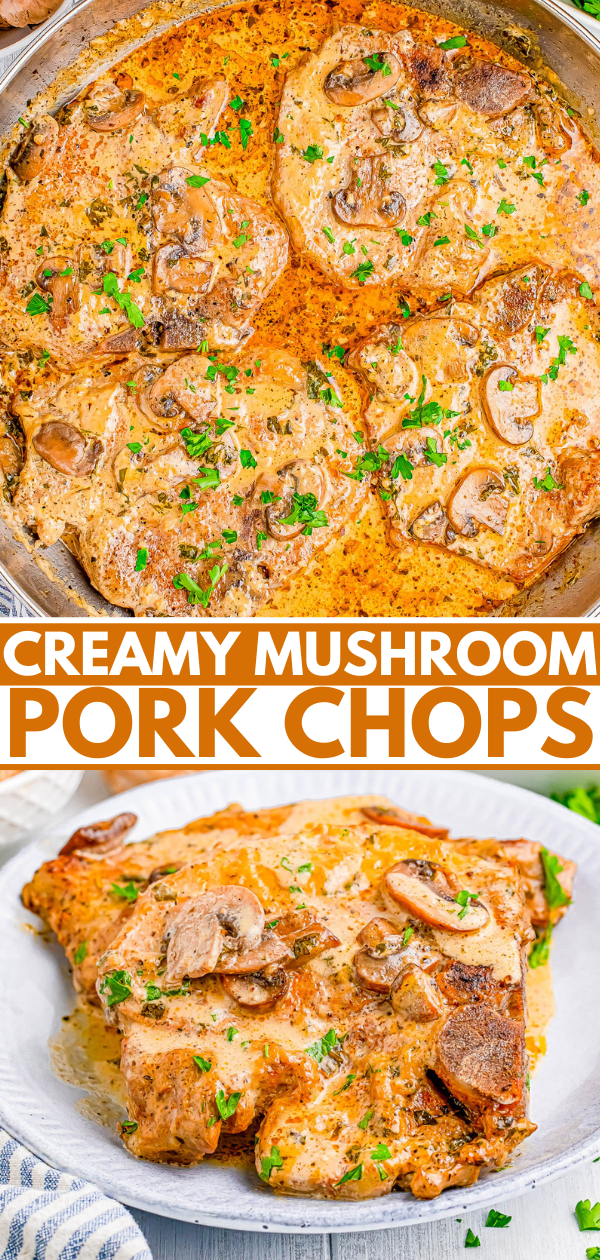
POLYGON ((523 1028, 483 1002, 460 1007, 437 1037, 436 1072, 465 1101, 518 1102, 524 1087, 523 1028))

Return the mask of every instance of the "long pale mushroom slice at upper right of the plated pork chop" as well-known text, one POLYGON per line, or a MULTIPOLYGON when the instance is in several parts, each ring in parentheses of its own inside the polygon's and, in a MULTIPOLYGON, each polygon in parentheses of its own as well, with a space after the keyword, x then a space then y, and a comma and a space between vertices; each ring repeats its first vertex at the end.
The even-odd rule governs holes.
POLYGON ((475 932, 489 920, 489 910, 479 898, 465 898, 465 905, 456 901, 463 891, 459 879, 435 862, 398 862, 386 871, 382 891, 386 903, 392 908, 402 906, 431 927, 475 932))

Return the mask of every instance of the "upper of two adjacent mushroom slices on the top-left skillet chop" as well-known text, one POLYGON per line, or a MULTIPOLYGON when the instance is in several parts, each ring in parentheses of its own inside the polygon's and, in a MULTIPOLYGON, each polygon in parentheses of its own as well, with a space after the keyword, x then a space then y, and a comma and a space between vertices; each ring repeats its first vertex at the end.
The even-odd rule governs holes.
POLYGON ((194 188, 192 178, 197 176, 180 166, 160 173, 151 194, 153 218, 163 237, 193 246, 200 255, 221 236, 221 220, 205 185, 194 188))

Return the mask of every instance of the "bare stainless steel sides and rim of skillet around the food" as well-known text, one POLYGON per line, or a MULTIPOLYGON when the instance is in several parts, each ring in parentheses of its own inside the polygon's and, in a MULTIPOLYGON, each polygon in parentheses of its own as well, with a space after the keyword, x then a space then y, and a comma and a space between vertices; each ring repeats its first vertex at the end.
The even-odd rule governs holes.
MULTIPOLYGON (((416 8, 451 19, 546 74, 599 139, 599 37, 553 0, 412 0, 416 8)), ((228 8, 228 0, 221 8, 228 8)), ((0 156, 10 129, 30 101, 55 110, 87 82, 161 32, 217 8, 212 0, 82 0, 40 30, 0 78, 0 156)), ((91 586, 62 543, 33 554, 0 518, 0 573, 38 616, 127 616, 91 586)), ((32 541, 29 541, 32 543, 32 541)), ((500 616, 584 617, 600 607, 600 520, 558 557, 548 572, 500 616)))

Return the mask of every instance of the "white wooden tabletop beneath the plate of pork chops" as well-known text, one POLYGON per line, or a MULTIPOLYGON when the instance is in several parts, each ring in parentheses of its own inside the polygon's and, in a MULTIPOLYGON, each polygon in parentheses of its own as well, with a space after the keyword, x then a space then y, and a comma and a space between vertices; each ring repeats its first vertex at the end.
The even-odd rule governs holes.
MULTIPOLYGON (((497 772, 498 774, 498 772, 497 772)), ((538 790, 563 789, 566 771, 502 775, 522 785, 534 779, 538 790), (552 779, 550 777, 552 776, 552 779)), ((571 771, 579 781, 600 781, 600 775, 571 771)), ((232 789, 232 796, 236 793, 232 789)), ((87 771, 81 788, 61 818, 106 798, 96 771, 87 771)), ((487 1211, 456 1220, 367 1234, 300 1236, 251 1234, 184 1225, 134 1211, 154 1260, 459 1260, 465 1255, 465 1235, 480 1239, 480 1260, 585 1260, 586 1247, 600 1246, 600 1232, 580 1234, 574 1208, 580 1198, 600 1201, 600 1163, 586 1163, 562 1181, 531 1191, 522 1198, 498 1200, 495 1207, 512 1216, 504 1230, 485 1228, 487 1211)))

